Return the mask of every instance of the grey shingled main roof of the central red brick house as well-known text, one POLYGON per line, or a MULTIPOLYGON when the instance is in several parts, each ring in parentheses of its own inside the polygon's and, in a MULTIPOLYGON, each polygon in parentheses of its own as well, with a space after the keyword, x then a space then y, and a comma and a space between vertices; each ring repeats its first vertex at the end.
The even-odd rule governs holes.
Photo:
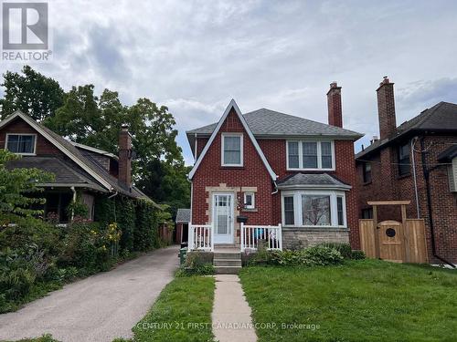
MULTIPOLYGON (((340 136, 358 139, 363 134, 353 130, 327 125, 321 122, 294 117, 271 109, 258 109, 243 114, 252 134, 261 136, 340 136)), ((213 123, 196 130, 188 130, 187 135, 211 134, 218 123, 213 123)))

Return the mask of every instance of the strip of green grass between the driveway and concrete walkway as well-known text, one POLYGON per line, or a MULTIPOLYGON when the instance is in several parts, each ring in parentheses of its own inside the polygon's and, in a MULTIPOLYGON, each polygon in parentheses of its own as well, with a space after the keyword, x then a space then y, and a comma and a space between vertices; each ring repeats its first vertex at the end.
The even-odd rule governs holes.
POLYGON ((213 341, 214 289, 213 277, 175 278, 166 285, 150 312, 133 327, 133 341, 213 341))

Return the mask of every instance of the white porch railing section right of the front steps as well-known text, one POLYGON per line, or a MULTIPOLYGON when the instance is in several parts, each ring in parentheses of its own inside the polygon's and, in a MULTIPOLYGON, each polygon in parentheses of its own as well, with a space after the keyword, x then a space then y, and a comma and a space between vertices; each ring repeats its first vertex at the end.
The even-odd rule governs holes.
POLYGON ((241 252, 256 250, 259 242, 267 249, 282 251, 282 227, 278 225, 245 225, 241 223, 241 252))

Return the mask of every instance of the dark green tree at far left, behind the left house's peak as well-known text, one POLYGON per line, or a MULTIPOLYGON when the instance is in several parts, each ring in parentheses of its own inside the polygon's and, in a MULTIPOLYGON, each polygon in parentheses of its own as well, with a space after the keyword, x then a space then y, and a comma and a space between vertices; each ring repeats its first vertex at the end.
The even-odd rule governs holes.
POLYGON ((64 102, 64 91, 58 82, 47 78, 25 66, 21 75, 6 71, 4 82, 5 97, 0 99, 2 119, 21 110, 33 119, 41 121, 52 117, 64 102))

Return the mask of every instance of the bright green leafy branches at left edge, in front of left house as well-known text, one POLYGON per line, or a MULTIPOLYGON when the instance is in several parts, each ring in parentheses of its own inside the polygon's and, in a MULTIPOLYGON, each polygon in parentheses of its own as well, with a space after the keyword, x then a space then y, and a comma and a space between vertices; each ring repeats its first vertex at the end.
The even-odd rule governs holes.
POLYGON ((44 204, 46 200, 31 195, 43 191, 38 187, 39 183, 53 178, 50 173, 37 169, 6 170, 6 163, 17 158, 16 154, 0 150, 0 225, 42 214, 42 210, 33 209, 33 206, 44 204))

